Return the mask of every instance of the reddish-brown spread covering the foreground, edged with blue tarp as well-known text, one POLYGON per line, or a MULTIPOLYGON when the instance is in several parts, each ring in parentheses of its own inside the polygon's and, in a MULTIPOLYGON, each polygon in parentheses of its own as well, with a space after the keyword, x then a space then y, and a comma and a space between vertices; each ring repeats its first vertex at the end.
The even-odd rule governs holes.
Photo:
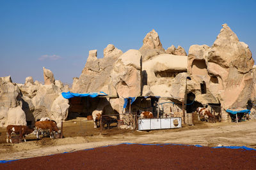
POLYGON ((122 144, 15 160, 0 169, 256 169, 256 151, 122 144))

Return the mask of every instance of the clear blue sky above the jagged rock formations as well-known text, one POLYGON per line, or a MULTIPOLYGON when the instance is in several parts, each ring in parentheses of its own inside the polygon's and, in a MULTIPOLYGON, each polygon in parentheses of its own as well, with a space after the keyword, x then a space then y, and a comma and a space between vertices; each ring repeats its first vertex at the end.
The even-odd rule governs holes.
POLYGON ((0 76, 24 83, 79 77, 89 50, 109 44, 139 49, 155 29, 166 49, 209 45, 227 23, 249 45, 255 60, 256 1, 3 1, 0 0, 0 76))

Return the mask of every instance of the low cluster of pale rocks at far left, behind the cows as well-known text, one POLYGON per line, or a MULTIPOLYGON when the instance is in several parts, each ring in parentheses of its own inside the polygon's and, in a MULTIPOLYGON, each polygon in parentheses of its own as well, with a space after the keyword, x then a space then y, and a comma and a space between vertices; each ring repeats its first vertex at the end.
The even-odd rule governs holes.
MULTIPOLYGON (((44 69, 44 73, 54 80, 51 71, 44 69)), ((68 99, 63 98, 61 92, 69 89, 60 80, 56 80, 56 85, 55 80, 50 84, 48 80, 42 85, 38 81, 34 83, 30 76, 24 84, 16 84, 10 76, 0 78, 0 126, 26 125, 28 122, 33 125, 42 117, 50 117, 60 125, 69 108, 68 99)))

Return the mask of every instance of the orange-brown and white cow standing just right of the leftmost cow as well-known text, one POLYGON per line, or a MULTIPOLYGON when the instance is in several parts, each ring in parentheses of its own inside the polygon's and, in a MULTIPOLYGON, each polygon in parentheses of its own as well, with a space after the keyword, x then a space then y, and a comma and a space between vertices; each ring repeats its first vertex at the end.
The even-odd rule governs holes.
POLYGON ((35 129, 36 129, 36 138, 39 138, 39 131, 45 131, 45 130, 49 130, 50 131, 50 138, 54 138, 54 132, 58 132, 60 133, 57 124, 54 120, 47 120, 47 121, 38 121, 35 122, 35 129))

